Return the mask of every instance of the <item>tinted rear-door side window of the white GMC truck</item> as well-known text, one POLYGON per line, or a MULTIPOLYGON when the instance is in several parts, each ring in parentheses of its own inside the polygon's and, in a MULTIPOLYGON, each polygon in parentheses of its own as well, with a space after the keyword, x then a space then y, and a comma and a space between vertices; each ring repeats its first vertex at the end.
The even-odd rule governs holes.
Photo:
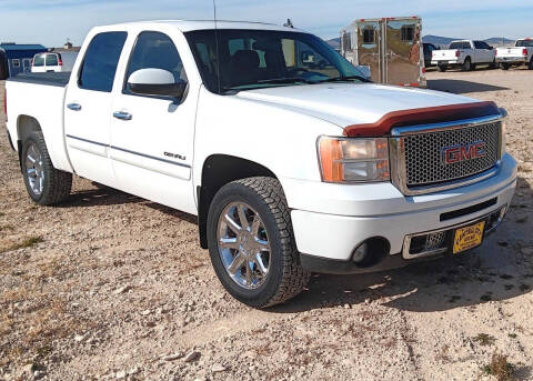
POLYGON ((92 39, 78 80, 81 89, 111 92, 127 37, 127 32, 104 32, 92 39))

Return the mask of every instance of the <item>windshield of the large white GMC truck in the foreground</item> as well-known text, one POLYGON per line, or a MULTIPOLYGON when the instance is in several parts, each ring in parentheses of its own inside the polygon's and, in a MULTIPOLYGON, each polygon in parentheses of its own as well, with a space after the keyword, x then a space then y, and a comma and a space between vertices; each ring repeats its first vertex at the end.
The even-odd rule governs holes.
POLYGON ((185 37, 205 87, 215 93, 365 80, 329 44, 308 33, 223 29, 185 37))

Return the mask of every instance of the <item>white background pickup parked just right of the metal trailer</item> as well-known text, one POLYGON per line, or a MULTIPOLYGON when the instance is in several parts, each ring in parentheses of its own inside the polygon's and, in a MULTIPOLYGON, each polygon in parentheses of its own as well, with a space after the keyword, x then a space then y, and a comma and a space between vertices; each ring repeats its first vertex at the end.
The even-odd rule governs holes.
POLYGON ((446 71, 450 67, 471 71, 477 64, 495 68, 495 50, 484 41, 453 41, 447 49, 434 50, 431 63, 436 64, 439 71, 446 71))

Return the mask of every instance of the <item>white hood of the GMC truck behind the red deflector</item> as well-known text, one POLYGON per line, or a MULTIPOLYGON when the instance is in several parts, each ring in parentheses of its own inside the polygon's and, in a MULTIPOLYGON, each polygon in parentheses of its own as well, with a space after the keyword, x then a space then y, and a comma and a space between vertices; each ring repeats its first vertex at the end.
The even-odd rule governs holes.
POLYGON ((472 103, 446 92, 374 83, 320 83, 241 91, 240 99, 291 109, 345 128, 401 110, 472 103))

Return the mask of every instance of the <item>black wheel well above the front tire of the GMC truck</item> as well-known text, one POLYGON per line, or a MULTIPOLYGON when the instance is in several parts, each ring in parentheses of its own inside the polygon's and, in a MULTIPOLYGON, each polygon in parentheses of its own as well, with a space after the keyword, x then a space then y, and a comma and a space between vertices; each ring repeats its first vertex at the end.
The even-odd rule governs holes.
POLYGON ((227 183, 258 176, 275 179, 275 174, 266 167, 247 159, 228 154, 213 154, 205 159, 202 168, 202 182, 197 188, 198 228, 200 244, 203 249, 208 248, 208 213, 217 192, 227 183))

